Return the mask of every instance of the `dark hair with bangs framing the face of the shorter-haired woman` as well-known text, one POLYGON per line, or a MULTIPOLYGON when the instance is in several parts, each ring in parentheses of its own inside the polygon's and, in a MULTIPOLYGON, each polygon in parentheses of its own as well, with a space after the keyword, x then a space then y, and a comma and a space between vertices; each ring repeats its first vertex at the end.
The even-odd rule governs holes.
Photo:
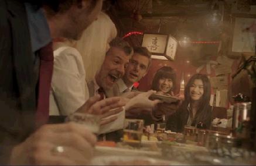
POLYGON ((175 89, 176 84, 176 73, 170 66, 163 66, 156 71, 155 76, 153 77, 151 89, 159 91, 159 80, 163 78, 172 79, 173 86, 172 89, 168 91, 169 94, 172 94, 171 92, 175 89))

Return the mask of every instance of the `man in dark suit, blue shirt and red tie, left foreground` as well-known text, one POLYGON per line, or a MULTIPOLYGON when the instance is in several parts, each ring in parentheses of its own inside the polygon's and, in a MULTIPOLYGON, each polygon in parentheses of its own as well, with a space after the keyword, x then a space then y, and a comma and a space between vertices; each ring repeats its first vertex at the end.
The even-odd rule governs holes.
MULTIPOLYGON (((93 133, 75 123, 43 125, 49 116, 51 40, 78 39, 103 1, 25 1, 0 0, 0 164, 84 165, 93 133)), ((120 100, 99 99, 90 98, 78 111, 101 114, 120 100)))

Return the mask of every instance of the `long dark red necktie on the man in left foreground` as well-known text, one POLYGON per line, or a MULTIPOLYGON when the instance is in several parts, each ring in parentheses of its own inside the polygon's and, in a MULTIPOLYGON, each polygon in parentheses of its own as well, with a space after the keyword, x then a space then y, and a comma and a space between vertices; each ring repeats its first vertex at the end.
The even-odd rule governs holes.
POLYGON ((36 111, 36 126, 43 125, 49 118, 49 97, 50 84, 53 73, 53 49, 52 42, 41 48, 40 69, 39 69, 39 89, 36 111))

